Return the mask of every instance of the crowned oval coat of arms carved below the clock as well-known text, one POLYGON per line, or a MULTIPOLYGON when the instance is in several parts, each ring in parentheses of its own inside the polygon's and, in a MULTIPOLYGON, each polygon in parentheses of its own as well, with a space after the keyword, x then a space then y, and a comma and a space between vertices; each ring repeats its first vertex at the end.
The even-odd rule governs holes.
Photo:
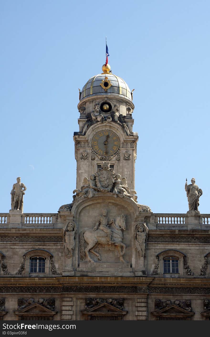
POLYGON ((96 173, 96 185, 98 190, 107 193, 113 186, 113 168, 109 168, 109 162, 104 162, 96 173))

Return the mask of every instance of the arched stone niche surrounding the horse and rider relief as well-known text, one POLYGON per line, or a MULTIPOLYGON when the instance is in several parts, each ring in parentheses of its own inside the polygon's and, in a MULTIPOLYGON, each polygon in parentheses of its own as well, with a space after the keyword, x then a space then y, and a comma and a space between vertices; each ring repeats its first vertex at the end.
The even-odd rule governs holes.
MULTIPOLYGON (((73 220, 78 228, 75 247, 75 252, 77 252, 77 254, 75 254, 75 275, 78 274, 77 272, 86 272, 92 276, 99 276, 100 273, 103 275, 107 273, 107 276, 133 276, 132 233, 133 224, 139 215, 136 203, 128 197, 115 197, 113 193, 97 193, 97 195, 92 198, 81 198, 78 200, 77 203, 74 204, 71 212, 74 215, 73 220), (114 241, 117 235, 120 236, 121 233, 123 233, 122 243, 126 245, 126 248, 122 259, 120 258, 118 247, 120 252, 123 252, 123 247, 120 247, 118 244, 108 244, 108 237, 105 237, 106 233, 104 231, 100 232, 98 229, 93 231, 94 227, 97 226, 100 216, 103 214, 103 209, 107 209, 107 219, 108 221, 114 219, 115 225, 120 221, 123 222, 122 219, 119 220, 118 216, 124 215, 126 225, 124 231, 118 231, 114 228, 114 225, 109 225, 109 228, 114 230, 114 232, 112 232, 112 239, 114 241), (102 241, 94 247, 94 251, 99 254, 100 257, 98 258, 96 254, 90 251, 89 256, 91 260, 85 254, 84 247, 82 248, 84 241, 81 241, 81 237, 84 238, 84 232, 88 230, 91 232, 90 236, 96 237, 98 235, 97 241, 102 241), (83 255, 81 252, 83 252, 83 255), (124 262, 122 261, 123 259, 125 260, 124 262)), ((89 243, 91 240, 89 240, 89 243)), ((85 246, 87 247, 86 242, 85 246)))

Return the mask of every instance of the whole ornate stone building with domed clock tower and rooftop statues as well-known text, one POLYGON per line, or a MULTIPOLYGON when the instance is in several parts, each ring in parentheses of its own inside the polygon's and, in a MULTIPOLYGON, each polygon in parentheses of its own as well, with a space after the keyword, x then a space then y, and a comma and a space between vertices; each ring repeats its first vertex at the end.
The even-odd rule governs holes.
POLYGON ((0 319, 209 320, 210 215, 185 186, 186 214, 137 201, 133 91, 102 67, 80 92, 73 202, 23 213, 13 185, 0 214, 0 319))

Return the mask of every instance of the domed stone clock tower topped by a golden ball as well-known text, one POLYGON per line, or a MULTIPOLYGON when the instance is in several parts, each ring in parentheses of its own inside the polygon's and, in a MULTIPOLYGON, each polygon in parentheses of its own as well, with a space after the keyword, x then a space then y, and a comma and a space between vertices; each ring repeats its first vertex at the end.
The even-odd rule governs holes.
POLYGON ((76 188, 106 161, 134 190, 138 133, 133 132, 133 90, 112 74, 109 64, 102 71, 79 90, 79 131, 74 132, 76 188))

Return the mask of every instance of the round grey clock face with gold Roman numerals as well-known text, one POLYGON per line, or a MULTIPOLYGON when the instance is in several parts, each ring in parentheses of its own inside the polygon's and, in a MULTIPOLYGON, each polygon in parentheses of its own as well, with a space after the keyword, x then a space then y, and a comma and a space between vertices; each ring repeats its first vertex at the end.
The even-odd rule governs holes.
POLYGON ((110 130, 101 130, 94 134, 92 148, 102 156, 111 156, 119 150, 120 140, 118 135, 110 130))

